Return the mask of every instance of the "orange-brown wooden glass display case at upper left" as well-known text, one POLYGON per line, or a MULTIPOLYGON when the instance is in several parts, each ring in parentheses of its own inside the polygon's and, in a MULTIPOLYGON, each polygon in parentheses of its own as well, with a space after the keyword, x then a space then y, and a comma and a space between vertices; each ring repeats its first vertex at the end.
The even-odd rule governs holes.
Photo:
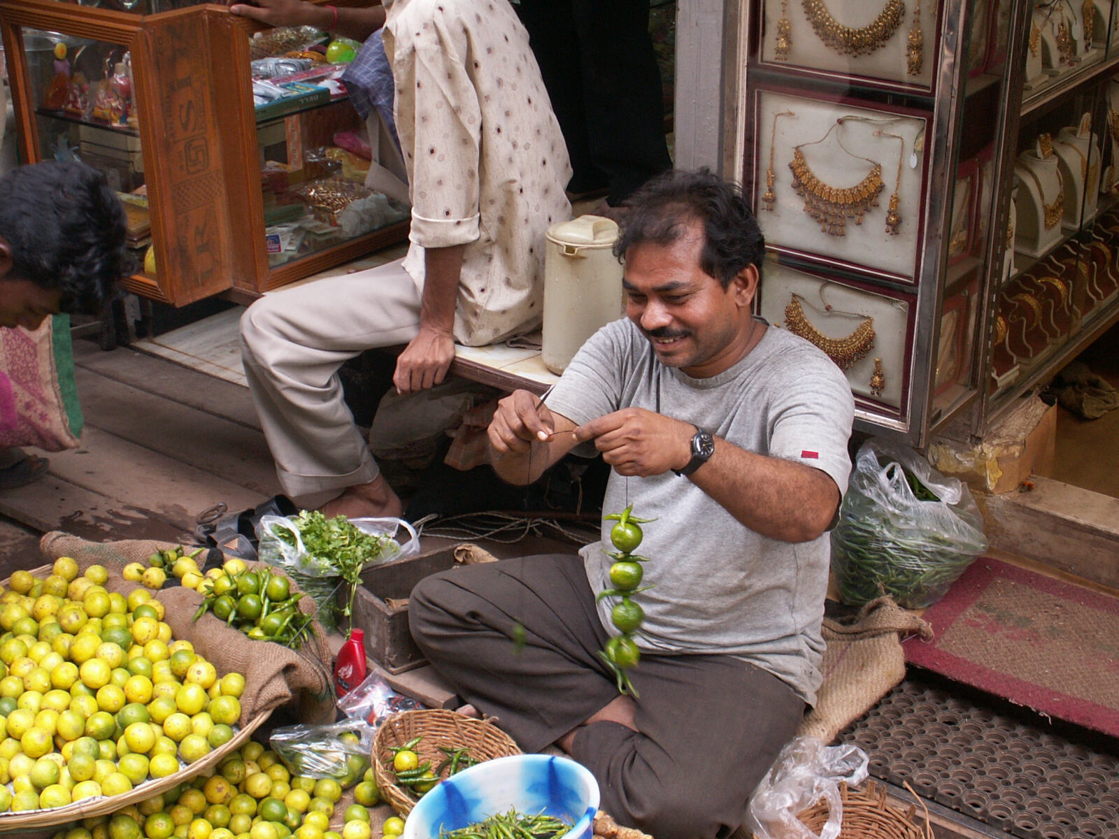
POLYGON ((0 0, 21 159, 105 173, 142 266, 129 291, 248 300, 407 235, 407 208, 364 186, 339 68, 254 98, 258 28, 191 0, 0 0))

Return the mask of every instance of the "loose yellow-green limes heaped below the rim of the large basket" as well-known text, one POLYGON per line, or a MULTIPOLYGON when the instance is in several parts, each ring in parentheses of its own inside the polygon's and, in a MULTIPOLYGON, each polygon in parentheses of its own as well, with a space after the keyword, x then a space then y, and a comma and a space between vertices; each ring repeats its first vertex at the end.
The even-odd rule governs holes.
MULTIPOLYGON (((369 811, 360 804, 345 810, 340 833, 330 830, 341 794, 333 779, 290 775, 275 752, 251 742, 191 781, 54 839, 370 839, 369 811)), ((391 821, 393 830, 401 822, 391 821)))

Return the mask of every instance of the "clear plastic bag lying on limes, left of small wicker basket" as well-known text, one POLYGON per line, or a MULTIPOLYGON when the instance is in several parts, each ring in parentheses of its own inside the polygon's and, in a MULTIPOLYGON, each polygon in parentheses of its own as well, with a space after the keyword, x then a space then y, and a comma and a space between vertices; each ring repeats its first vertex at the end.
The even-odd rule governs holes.
POLYGON ((269 745, 292 775, 332 777, 348 789, 369 769, 376 730, 361 719, 276 728, 269 745))

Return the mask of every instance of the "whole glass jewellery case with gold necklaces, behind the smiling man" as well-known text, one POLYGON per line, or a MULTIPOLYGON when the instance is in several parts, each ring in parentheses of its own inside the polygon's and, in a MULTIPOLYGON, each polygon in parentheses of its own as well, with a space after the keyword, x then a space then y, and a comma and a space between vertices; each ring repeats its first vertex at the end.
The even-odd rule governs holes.
POLYGON ((824 349, 856 427, 979 435, 1119 319, 1110 0, 743 0, 758 312, 824 349))

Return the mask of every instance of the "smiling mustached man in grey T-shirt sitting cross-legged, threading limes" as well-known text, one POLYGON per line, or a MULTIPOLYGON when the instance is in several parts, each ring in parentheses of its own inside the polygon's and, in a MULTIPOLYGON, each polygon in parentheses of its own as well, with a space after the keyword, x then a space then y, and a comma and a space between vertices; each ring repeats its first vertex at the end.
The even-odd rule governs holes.
POLYGON ((413 637, 526 751, 557 742, 602 809, 657 839, 726 836, 815 701, 828 535, 847 486, 850 388, 818 349, 751 314, 764 242, 736 186, 669 172, 629 202, 627 319, 545 400, 515 392, 495 469, 528 483, 582 443, 613 466, 604 509, 645 526, 640 662, 600 658, 610 526, 582 556, 457 568, 412 593, 413 637))

